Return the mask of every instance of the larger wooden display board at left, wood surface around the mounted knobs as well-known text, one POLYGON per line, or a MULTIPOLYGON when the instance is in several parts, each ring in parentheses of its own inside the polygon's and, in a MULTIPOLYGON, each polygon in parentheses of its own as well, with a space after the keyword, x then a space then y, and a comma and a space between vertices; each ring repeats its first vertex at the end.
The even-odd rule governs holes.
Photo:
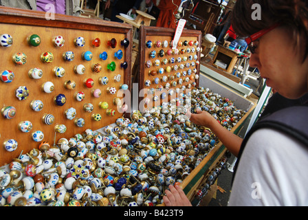
MULTIPOLYGON (((98 19, 85 19, 80 17, 70 17, 62 14, 55 14, 54 19, 47 20, 45 12, 34 12, 31 10, 19 10, 15 8, 0 7, 0 30, 2 34, 10 34, 13 39, 12 46, 0 47, 2 54, 0 60, 1 71, 10 70, 14 73, 12 83, 4 83, 0 81, 0 104, 3 107, 12 106, 16 109, 14 118, 7 119, 0 115, 0 144, 8 139, 14 139, 18 142, 18 147, 15 151, 9 152, 1 146, 0 149, 0 166, 8 164, 13 158, 19 156, 21 151, 28 153, 32 148, 38 148, 40 142, 36 142, 32 138, 32 133, 42 131, 44 138, 42 141, 54 144, 61 138, 74 137, 76 133, 83 133, 86 129, 93 131, 102 128, 108 124, 112 124, 115 120, 123 115, 118 111, 117 105, 113 103, 114 98, 123 98, 123 93, 110 94, 107 88, 114 87, 117 91, 121 85, 128 85, 131 89, 131 45, 132 45, 132 26, 129 24, 115 23, 102 21, 98 19), (37 47, 29 45, 27 38, 32 34, 37 34, 41 38, 41 44, 37 47), (63 47, 56 47, 53 39, 56 36, 63 36, 65 44, 63 47), (78 47, 74 43, 74 39, 83 36, 85 45, 78 47), (92 41, 99 38, 100 46, 92 45, 92 41), (111 48, 108 41, 116 39, 117 45, 111 48), (121 45, 121 41, 128 39, 130 41, 128 47, 121 45), (123 57, 118 59, 115 57, 115 52, 122 50, 123 57), (63 53, 74 52, 74 60, 69 62, 63 59, 63 53), (91 52, 93 58, 91 61, 85 61, 82 58, 83 52, 91 52), (41 54, 51 52, 54 55, 52 63, 44 63, 41 61, 41 54), (100 54, 107 52, 108 58, 102 60, 100 54), (23 65, 18 65, 12 61, 12 56, 16 53, 24 53, 27 56, 27 61, 23 65), (115 71, 107 69, 107 65, 112 61, 115 62, 115 71), (121 67, 121 64, 127 62, 127 68, 121 67), (92 71, 92 65, 99 63, 102 70, 98 73, 92 71), (77 65, 85 66, 84 74, 76 74, 74 67, 77 65), (54 74, 54 67, 63 67, 65 75, 57 77, 54 74), (39 79, 30 78, 28 72, 32 68, 39 68, 43 71, 43 76, 39 79), (115 80, 115 76, 118 81, 115 80), (107 85, 99 83, 100 77, 107 76, 109 82, 107 85), (94 85, 91 88, 85 86, 84 81, 93 79, 94 85), (74 81, 76 87, 67 89, 65 83, 74 81), (42 86, 46 82, 54 84, 54 90, 47 94, 43 91, 42 86), (28 97, 25 100, 19 100, 15 96, 15 91, 20 86, 28 88, 28 97), (100 89, 101 95, 95 98, 94 89, 100 89), (83 91, 85 98, 82 101, 76 100, 76 93, 83 91), (54 102, 54 97, 58 94, 64 94, 66 102, 63 106, 58 106, 54 102), (43 109, 34 111, 30 107, 32 100, 41 100, 43 109), (99 106, 100 102, 107 102, 108 109, 114 109, 115 115, 107 115, 107 109, 102 109, 99 106), (87 112, 84 110, 84 104, 93 104, 93 111, 87 112), (65 111, 69 108, 76 109, 76 117, 73 120, 67 119, 65 111), (100 114, 102 119, 96 121, 92 118, 94 114, 100 114), (43 122, 45 114, 54 115, 54 123, 47 125, 43 122), (83 118, 85 125, 83 127, 76 126, 74 120, 83 118), (19 123, 30 121, 32 129, 28 133, 22 132, 19 129, 19 123), (57 124, 66 126, 65 133, 55 132, 57 124), (56 138, 55 138, 56 134, 56 138)), ((128 110, 129 111, 129 110, 128 110)), ((127 112, 127 111, 126 111, 127 112)), ((128 113, 125 113, 127 116, 128 113)))

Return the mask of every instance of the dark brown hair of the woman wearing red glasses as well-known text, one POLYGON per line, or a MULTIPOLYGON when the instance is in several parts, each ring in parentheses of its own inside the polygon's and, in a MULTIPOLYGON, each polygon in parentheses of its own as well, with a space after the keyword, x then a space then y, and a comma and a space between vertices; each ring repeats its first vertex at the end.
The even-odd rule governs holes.
POLYGON ((308 56, 308 1, 307 0, 237 0, 231 14, 231 23, 238 36, 247 37, 275 23, 280 23, 293 34, 299 50, 305 48, 308 56), (255 19, 252 5, 261 7, 261 19, 255 19))

